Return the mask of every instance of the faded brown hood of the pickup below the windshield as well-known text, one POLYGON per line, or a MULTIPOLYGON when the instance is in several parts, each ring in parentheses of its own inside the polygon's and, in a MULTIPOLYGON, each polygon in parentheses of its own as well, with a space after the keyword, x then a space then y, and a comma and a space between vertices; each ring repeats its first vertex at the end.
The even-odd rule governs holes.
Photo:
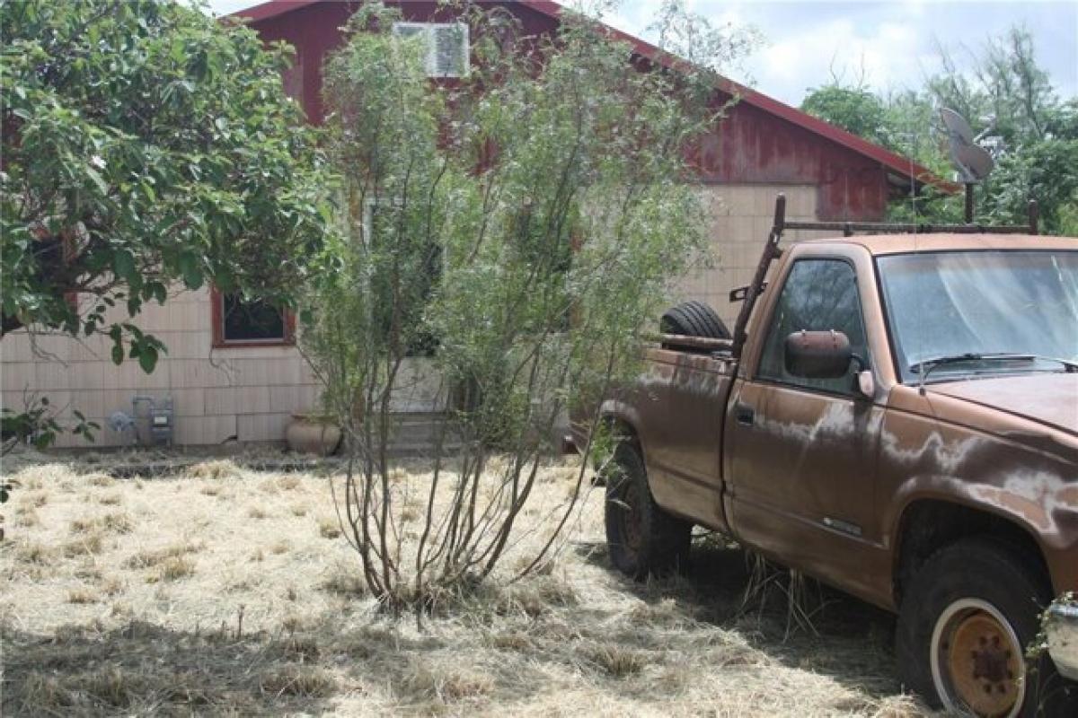
POLYGON ((953 381, 929 390, 1078 436, 1078 372, 953 381))

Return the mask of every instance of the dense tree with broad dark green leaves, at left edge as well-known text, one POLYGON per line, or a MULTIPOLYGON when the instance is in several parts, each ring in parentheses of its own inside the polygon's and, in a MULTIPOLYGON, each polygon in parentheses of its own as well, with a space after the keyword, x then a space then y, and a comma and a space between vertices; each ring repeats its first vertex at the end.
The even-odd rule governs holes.
POLYGON ((324 180, 281 47, 158 0, 9 2, 0 32, 2 335, 106 332, 151 371, 124 315, 175 283, 292 300, 324 180))

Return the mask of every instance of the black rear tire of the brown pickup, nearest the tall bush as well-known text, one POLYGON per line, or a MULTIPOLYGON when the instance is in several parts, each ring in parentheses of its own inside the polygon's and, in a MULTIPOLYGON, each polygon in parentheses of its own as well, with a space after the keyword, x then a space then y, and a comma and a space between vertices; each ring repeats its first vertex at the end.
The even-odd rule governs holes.
POLYGON ((619 444, 606 475, 607 548, 614 567, 641 580, 688 566, 692 524, 655 504, 639 451, 619 444))

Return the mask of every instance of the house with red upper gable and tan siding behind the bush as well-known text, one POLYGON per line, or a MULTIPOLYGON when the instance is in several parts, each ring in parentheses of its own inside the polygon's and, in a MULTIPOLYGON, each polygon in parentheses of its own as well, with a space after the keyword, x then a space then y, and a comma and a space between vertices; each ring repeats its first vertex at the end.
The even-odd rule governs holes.
MULTIPOLYGON (((341 28, 359 4, 358 0, 273 0, 236 14, 267 42, 284 40, 295 47, 285 87, 310 122, 324 117, 322 65, 327 54, 343 43, 341 28)), ((407 20, 399 31, 426 32, 431 38, 431 73, 466 71, 467 32, 447 31, 456 27, 452 11, 433 1, 399 4, 407 20)), ((553 31, 564 12, 551 0, 482 4, 512 12, 531 34, 553 31)), ((611 32, 631 43, 639 56, 661 58, 654 46, 611 32)), ((751 278, 776 193, 786 194, 790 219, 873 221, 883 217, 889 198, 909 193, 911 186, 937 182, 909 159, 750 88, 722 81, 716 94, 718 99, 740 98, 694 149, 720 262, 683 278, 679 292, 683 298, 709 302, 728 322, 736 313, 728 293, 751 278)), ((290 316, 206 288, 178 291, 164 306, 149 305, 137 323, 168 347, 151 375, 134 362, 114 366, 108 337, 9 335, 0 366, 2 406, 17 410, 25 396, 47 394, 53 406, 79 409, 101 423, 98 445, 115 446, 132 437, 110 428, 107 418, 115 411, 130 413, 136 397, 171 399, 175 442, 180 445, 280 441, 291 414, 316 405, 318 384, 295 347, 290 316)), ((414 389, 397 408, 436 408, 437 390, 421 380, 421 367, 412 369, 414 389)), ((70 435, 60 439, 61 446, 81 444, 70 435)))

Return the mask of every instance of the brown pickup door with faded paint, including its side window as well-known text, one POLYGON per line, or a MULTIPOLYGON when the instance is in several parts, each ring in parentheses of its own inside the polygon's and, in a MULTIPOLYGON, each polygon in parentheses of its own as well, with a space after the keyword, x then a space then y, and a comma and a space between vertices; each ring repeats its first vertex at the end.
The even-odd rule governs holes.
MULTIPOLYGON (((786 272, 756 362, 725 422, 728 501, 736 535, 791 567, 849 590, 872 552, 873 485, 883 408, 857 391, 857 362, 840 379, 786 371, 793 332, 843 332, 871 363, 853 263, 797 259, 786 272)), ((752 358, 752 357, 748 357, 752 358)))

